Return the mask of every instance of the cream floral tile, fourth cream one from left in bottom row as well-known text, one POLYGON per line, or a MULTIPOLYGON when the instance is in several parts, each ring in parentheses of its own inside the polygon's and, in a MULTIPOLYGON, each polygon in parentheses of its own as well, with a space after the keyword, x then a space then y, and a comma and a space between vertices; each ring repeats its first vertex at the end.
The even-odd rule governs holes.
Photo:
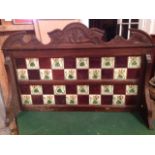
POLYGON ((90 105, 101 105, 101 95, 89 95, 90 105))

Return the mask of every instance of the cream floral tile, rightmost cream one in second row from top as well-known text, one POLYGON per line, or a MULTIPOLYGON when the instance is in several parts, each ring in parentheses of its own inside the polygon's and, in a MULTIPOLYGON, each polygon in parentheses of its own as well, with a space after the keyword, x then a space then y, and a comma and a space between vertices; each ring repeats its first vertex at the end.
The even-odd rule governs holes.
POLYGON ((114 69, 114 79, 115 80, 125 80, 127 78, 126 68, 116 68, 114 69))

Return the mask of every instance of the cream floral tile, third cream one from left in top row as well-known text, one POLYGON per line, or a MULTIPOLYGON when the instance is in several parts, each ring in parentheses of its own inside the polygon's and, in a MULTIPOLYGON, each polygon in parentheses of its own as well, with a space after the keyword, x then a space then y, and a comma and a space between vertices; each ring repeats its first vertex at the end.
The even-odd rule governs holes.
POLYGON ((88 69, 89 68, 89 58, 76 58, 76 68, 88 69))

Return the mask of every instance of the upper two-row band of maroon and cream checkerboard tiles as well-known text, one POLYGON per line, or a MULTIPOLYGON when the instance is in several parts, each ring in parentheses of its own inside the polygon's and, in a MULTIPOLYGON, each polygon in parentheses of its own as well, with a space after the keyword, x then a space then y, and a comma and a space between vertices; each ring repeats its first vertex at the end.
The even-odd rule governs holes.
POLYGON ((18 80, 126 80, 138 78, 140 56, 18 58, 18 80))

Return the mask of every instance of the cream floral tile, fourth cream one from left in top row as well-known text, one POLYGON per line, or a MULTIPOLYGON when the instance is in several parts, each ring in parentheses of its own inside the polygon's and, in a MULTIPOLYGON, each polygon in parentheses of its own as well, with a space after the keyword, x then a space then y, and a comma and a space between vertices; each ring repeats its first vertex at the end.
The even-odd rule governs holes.
POLYGON ((115 58, 114 57, 102 57, 101 66, 102 68, 114 68, 115 58))

